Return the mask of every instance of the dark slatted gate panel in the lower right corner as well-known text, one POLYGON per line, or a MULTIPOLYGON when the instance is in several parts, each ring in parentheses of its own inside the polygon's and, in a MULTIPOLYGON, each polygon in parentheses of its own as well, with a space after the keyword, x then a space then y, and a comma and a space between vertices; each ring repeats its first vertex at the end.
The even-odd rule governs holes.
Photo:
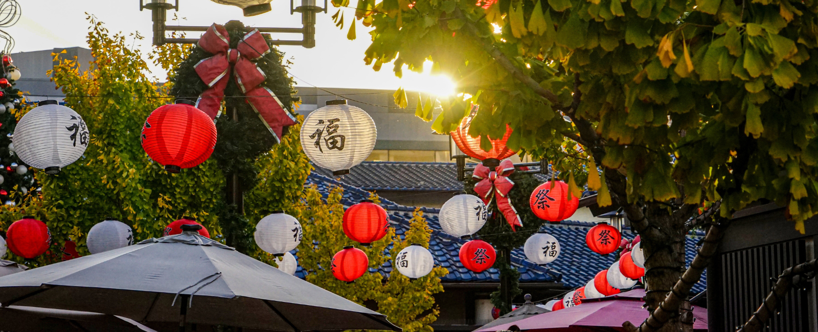
MULTIPOLYGON (((805 240, 741 249, 721 255, 721 308, 724 330, 743 325, 769 294, 775 278, 787 267, 807 261, 805 240)), ((712 287, 711 287, 712 289, 712 287)), ((712 289, 717 290, 717 289, 712 289)), ((792 289, 781 303, 780 313, 770 320, 765 332, 809 331, 809 303, 806 294, 792 289)), ((712 311, 711 311, 712 312, 712 311)))

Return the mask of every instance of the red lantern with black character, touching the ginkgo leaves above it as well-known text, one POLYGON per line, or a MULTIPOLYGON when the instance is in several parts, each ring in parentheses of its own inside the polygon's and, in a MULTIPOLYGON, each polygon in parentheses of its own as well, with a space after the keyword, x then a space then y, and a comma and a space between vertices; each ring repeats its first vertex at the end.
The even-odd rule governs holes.
POLYGON ((579 207, 579 197, 572 195, 571 200, 568 197, 568 184, 561 181, 549 181, 537 186, 531 192, 528 204, 531 204, 531 210, 538 218, 559 223, 573 216, 579 207))

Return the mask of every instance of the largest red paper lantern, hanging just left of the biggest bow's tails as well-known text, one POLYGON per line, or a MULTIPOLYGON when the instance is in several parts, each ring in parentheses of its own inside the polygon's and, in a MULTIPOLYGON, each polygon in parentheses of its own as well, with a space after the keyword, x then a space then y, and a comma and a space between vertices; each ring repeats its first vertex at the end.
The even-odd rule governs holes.
POLYGON ((213 119, 192 101, 176 102, 154 110, 142 127, 142 149, 168 173, 205 162, 216 146, 213 119))

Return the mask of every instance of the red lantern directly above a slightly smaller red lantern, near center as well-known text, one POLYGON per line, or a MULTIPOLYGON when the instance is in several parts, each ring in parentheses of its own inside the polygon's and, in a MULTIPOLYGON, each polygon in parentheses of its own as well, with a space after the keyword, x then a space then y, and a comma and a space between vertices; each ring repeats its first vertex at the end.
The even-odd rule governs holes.
POLYGON ((389 231, 389 213, 371 200, 350 206, 344 211, 344 234, 362 245, 383 238, 389 231))

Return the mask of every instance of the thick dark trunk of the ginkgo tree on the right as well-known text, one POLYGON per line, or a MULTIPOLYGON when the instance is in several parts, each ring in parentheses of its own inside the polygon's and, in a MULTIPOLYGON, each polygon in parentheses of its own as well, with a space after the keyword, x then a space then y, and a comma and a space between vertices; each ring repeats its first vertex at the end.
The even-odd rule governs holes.
MULTIPOLYGON (((655 236, 641 236, 645 250, 645 303, 653 312, 671 292, 685 271, 685 221, 668 213, 667 206, 648 204, 645 218, 655 228, 655 236)), ((659 331, 677 332, 679 319, 674 317, 659 331)))

